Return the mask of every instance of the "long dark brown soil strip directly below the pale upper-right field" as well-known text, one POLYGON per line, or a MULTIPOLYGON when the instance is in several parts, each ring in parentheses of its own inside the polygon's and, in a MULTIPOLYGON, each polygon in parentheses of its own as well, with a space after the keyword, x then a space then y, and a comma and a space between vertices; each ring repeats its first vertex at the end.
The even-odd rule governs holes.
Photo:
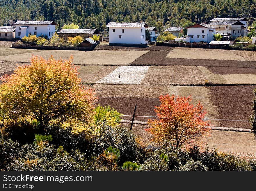
POLYGON ((217 67, 256 68, 256 61, 164 58, 159 63, 159 65, 217 66, 217 67))

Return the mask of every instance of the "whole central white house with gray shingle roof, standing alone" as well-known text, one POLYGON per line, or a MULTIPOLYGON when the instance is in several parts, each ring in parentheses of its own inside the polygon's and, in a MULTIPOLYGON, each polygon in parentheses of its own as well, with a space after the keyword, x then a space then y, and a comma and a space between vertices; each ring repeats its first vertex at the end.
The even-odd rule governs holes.
POLYGON ((146 27, 144 23, 110 22, 109 44, 146 44, 146 27))

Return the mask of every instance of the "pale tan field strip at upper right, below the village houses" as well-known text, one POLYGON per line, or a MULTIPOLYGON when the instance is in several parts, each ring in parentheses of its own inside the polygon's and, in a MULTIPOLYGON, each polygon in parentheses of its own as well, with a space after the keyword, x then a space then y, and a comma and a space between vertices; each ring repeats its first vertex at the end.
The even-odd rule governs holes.
POLYGON ((177 49, 174 48, 166 58, 210 59, 210 60, 245 60, 234 52, 215 51, 211 49, 177 49))

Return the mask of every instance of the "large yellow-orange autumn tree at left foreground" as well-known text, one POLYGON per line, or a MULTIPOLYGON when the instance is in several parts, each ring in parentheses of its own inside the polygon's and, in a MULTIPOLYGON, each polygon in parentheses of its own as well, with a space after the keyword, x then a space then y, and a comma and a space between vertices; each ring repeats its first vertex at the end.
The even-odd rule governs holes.
POLYGON ((33 56, 31 65, 19 66, 4 76, 0 86, 2 124, 29 124, 36 119, 42 132, 52 121, 92 123, 97 97, 81 85, 72 61, 72 56, 68 60, 33 56))

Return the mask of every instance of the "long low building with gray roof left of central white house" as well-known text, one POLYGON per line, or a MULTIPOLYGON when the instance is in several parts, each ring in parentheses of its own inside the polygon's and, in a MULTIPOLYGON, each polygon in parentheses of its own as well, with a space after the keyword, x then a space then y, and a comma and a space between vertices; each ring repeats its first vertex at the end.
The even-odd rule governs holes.
POLYGON ((83 38, 93 37, 93 35, 98 36, 99 31, 97 28, 88 29, 61 29, 58 31, 60 38, 65 37, 76 37, 78 35, 83 36, 83 38))

